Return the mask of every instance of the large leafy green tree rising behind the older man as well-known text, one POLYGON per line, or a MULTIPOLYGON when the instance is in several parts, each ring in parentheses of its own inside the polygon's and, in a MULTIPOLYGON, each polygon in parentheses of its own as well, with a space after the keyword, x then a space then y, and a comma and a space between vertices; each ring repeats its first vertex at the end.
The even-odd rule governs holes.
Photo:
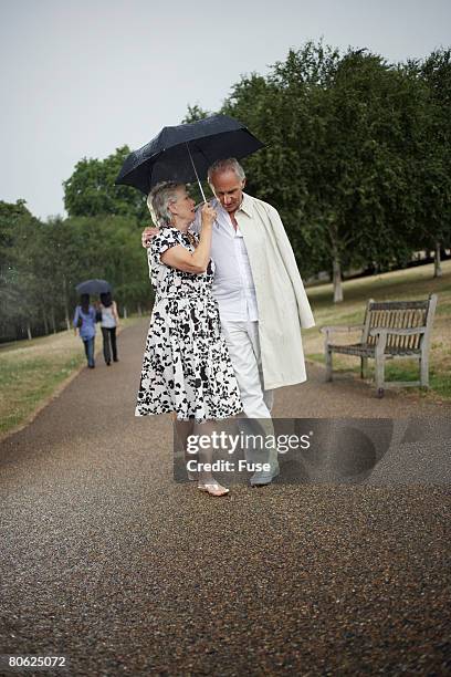
POLYGON ((251 190, 279 208, 301 271, 332 271, 335 302, 344 269, 411 254, 419 93, 377 54, 308 42, 266 77, 242 77, 224 103, 266 143, 244 163, 251 190))

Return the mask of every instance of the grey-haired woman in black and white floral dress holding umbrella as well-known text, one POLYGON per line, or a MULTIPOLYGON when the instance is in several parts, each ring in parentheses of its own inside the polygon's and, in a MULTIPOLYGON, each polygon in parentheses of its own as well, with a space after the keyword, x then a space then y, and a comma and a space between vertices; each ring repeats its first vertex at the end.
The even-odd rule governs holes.
MULTIPOLYGON (((196 211, 185 185, 158 184, 148 206, 159 226, 148 249, 156 298, 135 414, 175 412, 180 428, 182 421, 192 421, 197 434, 204 435, 214 420, 242 412, 220 331, 218 304, 211 295, 214 263, 210 248, 216 212, 203 205, 202 229, 197 238, 188 232, 196 211)), ((202 458, 202 462, 206 460, 202 458)), ((213 496, 228 492, 211 472, 200 472, 199 479, 198 487, 203 491, 213 496)))

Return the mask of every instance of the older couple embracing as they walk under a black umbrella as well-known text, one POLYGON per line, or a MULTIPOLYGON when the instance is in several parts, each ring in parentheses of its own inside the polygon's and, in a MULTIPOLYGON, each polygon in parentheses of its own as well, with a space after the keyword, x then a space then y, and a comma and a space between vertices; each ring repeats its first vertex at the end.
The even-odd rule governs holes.
MULTIPOLYGON (((315 324, 277 211, 243 192, 234 158, 214 163, 208 181, 216 199, 197 211, 185 185, 156 186, 147 204, 158 229, 143 232, 156 298, 135 414, 175 413, 185 449, 188 436, 238 414, 270 433, 274 388, 306 381, 301 327, 315 324)), ((211 448, 199 456, 190 479, 228 493, 211 448)), ((250 481, 276 475, 274 451, 250 481)))

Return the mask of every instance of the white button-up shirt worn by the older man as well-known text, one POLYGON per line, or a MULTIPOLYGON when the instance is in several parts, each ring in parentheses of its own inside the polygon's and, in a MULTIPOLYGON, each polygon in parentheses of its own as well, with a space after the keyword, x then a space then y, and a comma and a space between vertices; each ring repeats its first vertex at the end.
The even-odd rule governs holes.
MULTIPOLYGON (((245 196, 235 217, 239 217, 240 210, 245 211, 244 198, 245 196)), ((218 216, 211 238, 211 258, 216 265, 211 291, 218 301, 221 320, 255 322, 259 320, 255 284, 243 235, 239 226, 234 229, 229 213, 218 200, 213 201, 213 208, 218 216)), ((201 215, 198 209, 196 221, 191 226, 193 232, 199 233, 200 222, 201 215)))

